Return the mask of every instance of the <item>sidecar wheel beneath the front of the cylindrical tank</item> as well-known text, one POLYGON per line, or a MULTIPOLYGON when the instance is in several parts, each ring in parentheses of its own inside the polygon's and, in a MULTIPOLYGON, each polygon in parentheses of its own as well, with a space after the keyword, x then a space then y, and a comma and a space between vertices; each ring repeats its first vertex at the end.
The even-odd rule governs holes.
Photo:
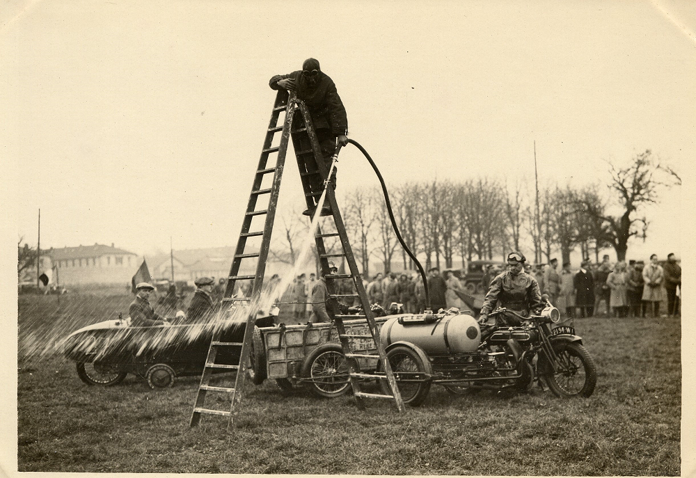
MULTIPOLYGON (((430 391, 431 382, 423 377, 430 374, 430 364, 426 365, 418 352, 404 345, 395 346, 388 351, 387 358, 395 374, 404 404, 411 406, 422 404, 430 391)), ((387 381, 381 380, 379 383, 384 395, 391 395, 387 381)))

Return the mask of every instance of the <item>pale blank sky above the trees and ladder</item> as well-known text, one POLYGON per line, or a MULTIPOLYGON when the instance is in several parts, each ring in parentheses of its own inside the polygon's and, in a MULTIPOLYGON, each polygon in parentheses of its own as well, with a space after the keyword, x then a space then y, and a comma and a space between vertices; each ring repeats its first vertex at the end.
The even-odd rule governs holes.
MULTIPOLYGON (((233 246, 275 92, 309 56, 388 185, 606 181, 696 157, 692 1, 5 2, 0 154, 17 234, 43 247, 233 246)), ((281 207, 301 209, 290 154, 281 207)), ((376 185, 355 148, 339 189, 376 185)), ((647 244, 681 252, 679 189, 647 244)), ((530 244, 531 248, 531 244, 530 244)))

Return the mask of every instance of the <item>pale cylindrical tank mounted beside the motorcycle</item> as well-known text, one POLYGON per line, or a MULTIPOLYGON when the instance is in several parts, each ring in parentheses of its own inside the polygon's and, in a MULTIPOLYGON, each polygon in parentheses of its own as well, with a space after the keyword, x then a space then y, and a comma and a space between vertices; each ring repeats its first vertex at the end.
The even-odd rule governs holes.
POLYGON ((481 343, 479 324, 468 314, 445 315, 440 321, 430 324, 419 323, 417 317, 388 319, 380 330, 381 340, 387 346, 404 340, 427 353, 473 352, 481 343))

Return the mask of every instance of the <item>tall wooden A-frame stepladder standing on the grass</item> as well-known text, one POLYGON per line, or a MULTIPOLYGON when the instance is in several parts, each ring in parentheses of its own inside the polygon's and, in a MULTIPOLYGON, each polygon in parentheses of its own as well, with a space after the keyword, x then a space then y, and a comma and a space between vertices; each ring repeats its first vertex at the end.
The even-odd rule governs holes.
MULTIPOLYGON (((271 121, 269 122, 269 127, 267 129, 266 138, 261 152, 261 157, 251 188, 251 194, 249 196, 248 204, 246 207, 244 221, 242 222, 242 232, 239 234, 237 248, 235 250, 235 257, 232 260, 230 276, 228 278, 227 287, 222 299, 223 306, 218 316, 221 318, 221 320, 226 319, 226 315, 230 312, 231 308, 248 307, 248 304, 250 302, 253 303, 253 301, 255 299, 258 299, 261 295, 264 272, 266 269, 266 262, 268 258, 269 248, 271 245, 271 232, 273 230, 273 223, 276 215, 276 205, 278 204, 280 179, 283 176, 283 167, 285 166, 285 155, 287 153, 287 143, 290 140, 291 134, 295 150, 295 156, 299 165, 301 180, 305 191, 305 198, 307 201, 307 205, 310 209, 315 208, 315 202, 319 199, 320 196, 322 196, 322 189, 326 187, 327 177, 329 173, 329 165, 324 164, 324 158, 322 157, 322 151, 319 147, 319 142, 317 141, 317 135, 314 131, 309 111, 306 105, 301 100, 296 99, 296 97, 294 97, 294 93, 290 93, 290 97, 288 97, 285 91, 280 90, 278 91, 278 95, 276 96, 276 102, 274 103, 273 110, 271 112, 271 121), (285 118, 282 122, 282 125, 278 126, 278 119, 280 117, 280 113, 282 112, 285 113, 285 118), (299 123, 299 125, 293 125, 293 120, 296 120, 296 122, 299 123), (274 138, 276 133, 280 133, 280 141, 277 145, 274 145, 274 138), (276 155, 276 161, 275 164, 272 164, 272 160, 269 160, 271 159, 271 155, 274 154, 276 155), (268 178, 271 177, 270 175, 273 176, 269 184, 268 178), (269 198, 268 205, 265 207, 265 209, 256 209, 257 202, 260 196, 268 196, 269 198), (254 218, 260 218, 262 216, 265 216, 263 229, 252 230, 254 218), (247 252, 247 239, 250 237, 259 236, 261 237, 261 244, 258 247, 258 250, 254 250, 253 252, 247 252), (256 260, 255 274, 240 275, 243 260, 256 260), (233 296, 237 281, 251 281, 251 292, 250 294, 248 294, 249 297, 235 298, 233 296)), ((357 296, 360 299, 360 303, 363 307, 363 315, 334 314, 333 310, 331 310, 331 308, 328 308, 330 310, 329 314, 335 321, 335 326, 338 330, 343 351, 345 353, 345 356, 349 359, 365 357, 365 355, 354 353, 354 351, 351 350, 350 339, 352 338, 352 336, 346 334, 345 327, 343 325, 343 319, 358 319, 361 317, 365 317, 378 351, 377 355, 370 357, 378 358, 381 364, 381 370, 384 371, 382 374, 379 375, 362 374, 358 370, 353 368, 355 360, 349 360, 349 364, 351 365, 349 380, 353 387, 358 407, 364 408, 363 399, 365 398, 383 398, 393 400, 395 402, 395 405, 397 406, 397 409, 399 411, 404 411, 404 404, 401 399, 399 390, 397 388, 394 375, 386 358, 384 347, 379 341, 379 328, 377 328, 377 325, 374 322, 374 315, 370 311, 370 303, 367 301, 367 294, 365 293, 365 288, 363 287, 360 272, 358 271, 358 266, 355 262, 355 257, 353 255, 347 237, 345 225, 343 224, 340 212, 338 211, 335 193, 331 186, 329 186, 326 189, 326 204, 328 204, 331 207, 333 214, 331 214, 331 216, 327 216, 324 219, 328 219, 329 217, 333 218, 333 223, 335 224, 336 232, 322 234, 321 228, 317 228, 317 234, 315 235, 317 252, 319 253, 319 260, 322 264, 322 275, 324 276, 324 278, 326 278, 326 287, 329 290, 331 299, 338 299, 342 296, 336 294, 337 288, 335 287, 334 281, 344 278, 352 278, 354 287, 356 289, 356 294, 349 294, 348 296, 357 296), (342 253, 330 254, 326 252, 324 239, 327 237, 338 237, 338 239, 340 239, 342 253), (351 273, 331 274, 331 271, 329 270, 329 258, 331 257, 345 257, 345 260, 349 266, 351 273), (392 392, 392 395, 381 395, 362 392, 360 388, 361 379, 386 380, 389 384, 389 388, 392 392)), ((242 342, 221 341, 221 337, 223 337, 224 328, 216 327, 214 335, 212 337, 212 341, 210 342, 210 346, 208 349, 205 368, 203 369, 203 376, 201 376, 200 379, 196 403, 193 406, 193 413, 191 415, 190 422, 191 427, 196 426, 200 422, 200 418, 203 414, 226 416, 228 417, 228 428, 233 425, 235 407, 239 405, 239 402, 242 400, 242 391, 244 388, 244 375, 246 372, 249 352, 251 351, 251 347, 253 346, 252 337, 255 321, 256 314, 254 312, 250 312, 246 319, 244 339, 242 340, 242 342), (239 351, 238 365, 221 365, 216 363, 217 353, 224 349, 227 349, 228 351, 233 351, 235 349, 239 351, 239 349, 241 349, 241 351, 239 351), (234 369, 237 371, 234 387, 210 385, 212 373, 214 372, 214 370, 221 368, 234 369), (231 402, 230 408, 228 410, 206 408, 205 398, 207 392, 217 392, 228 395, 231 402)))

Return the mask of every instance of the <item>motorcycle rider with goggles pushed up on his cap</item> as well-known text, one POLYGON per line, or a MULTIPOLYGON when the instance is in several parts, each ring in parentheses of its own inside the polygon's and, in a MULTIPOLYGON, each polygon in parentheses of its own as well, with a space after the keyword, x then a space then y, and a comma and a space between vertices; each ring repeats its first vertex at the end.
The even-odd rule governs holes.
MULTIPOLYGON (((496 276, 491 282, 491 288, 486 294, 479 321, 484 324, 488 314, 500 302, 500 307, 513 310, 518 314, 529 317, 532 313, 541 312, 544 303, 541 301, 539 284, 535 278, 524 272, 525 257, 522 253, 512 252, 507 255, 508 270, 496 276)), ((505 317, 508 325, 516 325, 519 319, 505 317)))

